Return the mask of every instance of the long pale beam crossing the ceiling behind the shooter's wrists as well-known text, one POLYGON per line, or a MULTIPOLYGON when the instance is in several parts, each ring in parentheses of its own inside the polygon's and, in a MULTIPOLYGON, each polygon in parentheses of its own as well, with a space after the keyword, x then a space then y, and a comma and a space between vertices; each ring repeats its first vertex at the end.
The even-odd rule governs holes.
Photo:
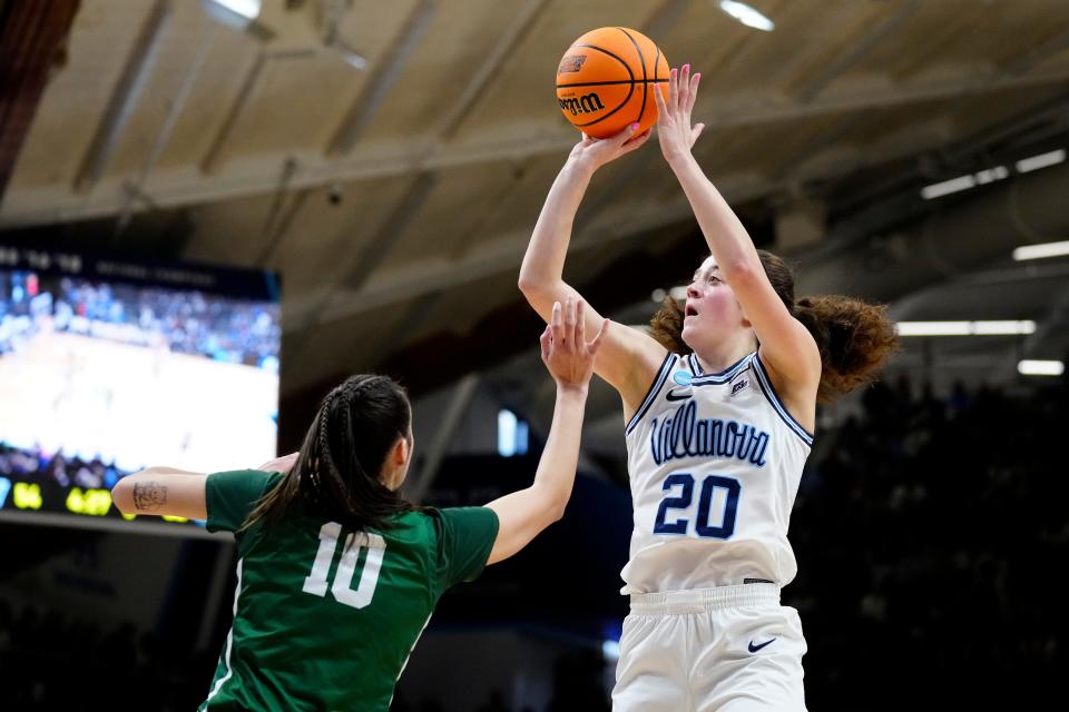
MULTIPOLYGON (((860 110, 872 107, 890 107, 929 99, 953 98, 978 92, 1000 91, 1010 88, 1023 88, 1059 83, 1069 80, 1069 69, 1059 69, 1042 75, 1006 76, 993 79, 945 80, 906 85, 881 91, 854 93, 845 97, 825 97, 808 105, 787 102, 765 107, 739 107, 725 109, 714 117, 702 117, 709 128, 732 128, 767 122, 788 121, 824 113, 860 110)), ((292 187, 313 188, 334 181, 370 180, 412 172, 416 169, 428 171, 447 170, 460 166, 480 162, 522 160, 549 154, 565 154, 575 139, 570 134, 552 134, 532 138, 530 132, 522 137, 510 137, 484 142, 453 144, 435 150, 430 156, 425 148, 402 154, 372 156, 370 151, 362 157, 342 160, 307 160, 302 171, 294 178, 292 187)), ((272 178, 278 157, 272 155, 259 165, 246 164, 242 172, 198 177, 189 179, 186 171, 176 171, 182 177, 167 185, 163 175, 157 175, 156 189, 153 192, 157 206, 180 207, 213 200, 247 197, 275 189, 272 178)), ((0 210, 0 227, 14 227, 43 222, 69 221, 114 215, 121 209, 121 198, 107 191, 101 195, 75 197, 59 194, 55 187, 38 190, 24 190, 17 194, 18 200, 9 200, 0 210), (42 208, 41 205, 50 207, 42 208), (22 209, 19 206, 28 206, 22 209), (35 207, 38 206, 38 207, 35 207)))

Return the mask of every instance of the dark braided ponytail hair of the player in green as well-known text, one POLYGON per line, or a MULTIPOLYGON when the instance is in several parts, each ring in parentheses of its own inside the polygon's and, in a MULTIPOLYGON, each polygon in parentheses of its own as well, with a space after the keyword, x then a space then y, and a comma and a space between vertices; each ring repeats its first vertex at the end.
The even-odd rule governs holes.
POLYGON ((409 437, 412 406, 386 376, 350 376, 326 394, 296 462, 261 497, 242 528, 277 522, 300 501, 310 513, 355 530, 388 528, 414 507, 379 478, 399 437, 409 437))

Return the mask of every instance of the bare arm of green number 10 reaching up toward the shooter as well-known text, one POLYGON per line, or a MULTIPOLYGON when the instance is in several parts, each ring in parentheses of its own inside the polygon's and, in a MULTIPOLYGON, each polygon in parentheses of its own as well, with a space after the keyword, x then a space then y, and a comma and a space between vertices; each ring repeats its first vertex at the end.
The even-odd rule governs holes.
POLYGON ((568 299, 563 315, 559 301, 551 307, 550 324, 540 340, 542 363, 557 382, 553 423, 533 484, 487 505, 498 515, 498 538, 487 563, 508 558, 565 515, 579 464, 587 387, 595 356, 604 346, 608 330, 609 323, 604 319, 598 335, 587 344, 582 303, 568 299))

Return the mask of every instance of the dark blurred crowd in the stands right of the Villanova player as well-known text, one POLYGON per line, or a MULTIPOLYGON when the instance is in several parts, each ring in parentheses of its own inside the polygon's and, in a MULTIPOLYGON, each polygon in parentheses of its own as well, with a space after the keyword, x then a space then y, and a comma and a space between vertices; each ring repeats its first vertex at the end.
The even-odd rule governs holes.
POLYGON ((1065 383, 905 382, 824 434, 791 522, 811 709, 1026 709, 1069 670, 1065 383))

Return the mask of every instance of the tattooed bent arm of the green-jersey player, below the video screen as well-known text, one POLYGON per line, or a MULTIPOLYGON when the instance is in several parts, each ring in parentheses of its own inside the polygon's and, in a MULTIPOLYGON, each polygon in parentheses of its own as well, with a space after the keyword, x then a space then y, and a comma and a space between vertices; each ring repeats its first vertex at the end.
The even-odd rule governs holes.
POLYGON ((174 467, 146 467, 119 479, 111 501, 122 514, 155 514, 205 520, 208 516, 205 483, 199 472, 174 467))

